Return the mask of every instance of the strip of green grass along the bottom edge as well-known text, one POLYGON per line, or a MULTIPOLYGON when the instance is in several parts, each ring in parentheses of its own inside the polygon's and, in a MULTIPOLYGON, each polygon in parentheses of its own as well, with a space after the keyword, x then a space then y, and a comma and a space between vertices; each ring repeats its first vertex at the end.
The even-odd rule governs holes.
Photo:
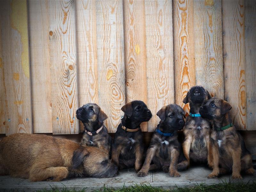
MULTIPOLYGON (((39 190, 36 192, 85 192, 86 189, 83 190, 67 190, 63 188, 62 190, 51 189, 51 190, 39 190)), ((223 181, 219 184, 214 185, 205 185, 198 184, 194 187, 176 187, 174 189, 163 189, 163 188, 154 188, 150 185, 136 185, 130 187, 123 188, 107 188, 102 187, 99 190, 93 190, 92 192, 255 192, 256 191, 256 182, 251 181, 248 183, 240 182, 240 183, 230 183, 227 181, 223 181)))

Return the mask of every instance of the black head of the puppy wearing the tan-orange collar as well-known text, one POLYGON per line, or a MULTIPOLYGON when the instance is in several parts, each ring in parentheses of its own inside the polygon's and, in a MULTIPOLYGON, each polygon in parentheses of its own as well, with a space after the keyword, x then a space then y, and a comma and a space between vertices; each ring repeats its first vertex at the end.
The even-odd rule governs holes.
POLYGON ((152 117, 152 113, 147 105, 139 100, 126 103, 121 110, 131 119, 131 121, 145 122, 149 121, 152 117))

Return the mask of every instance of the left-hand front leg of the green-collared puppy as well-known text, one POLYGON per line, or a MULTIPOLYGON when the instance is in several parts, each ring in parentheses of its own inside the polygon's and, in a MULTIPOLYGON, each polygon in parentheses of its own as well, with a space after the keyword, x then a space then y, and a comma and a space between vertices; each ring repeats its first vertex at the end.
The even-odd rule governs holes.
POLYGON ((212 146, 212 159, 213 159, 213 170, 208 175, 208 178, 215 178, 218 177, 220 174, 220 168, 219 168, 219 149, 218 149, 218 143, 215 140, 211 140, 211 146, 212 146))

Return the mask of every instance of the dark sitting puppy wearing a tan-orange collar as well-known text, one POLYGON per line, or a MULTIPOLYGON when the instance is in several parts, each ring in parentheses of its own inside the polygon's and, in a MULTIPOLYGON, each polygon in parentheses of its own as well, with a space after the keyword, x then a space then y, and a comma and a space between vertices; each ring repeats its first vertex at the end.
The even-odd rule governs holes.
POLYGON ((112 144, 112 161, 118 169, 133 167, 140 170, 143 157, 143 134, 140 130, 142 122, 149 121, 151 111, 143 101, 134 100, 124 105, 122 122, 118 125, 112 144))

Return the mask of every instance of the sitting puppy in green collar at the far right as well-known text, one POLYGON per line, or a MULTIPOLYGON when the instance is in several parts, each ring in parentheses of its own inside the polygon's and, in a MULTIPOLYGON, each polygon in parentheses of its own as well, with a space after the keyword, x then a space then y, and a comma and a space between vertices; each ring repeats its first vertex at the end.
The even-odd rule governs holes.
POLYGON ((242 179, 240 172, 254 174, 252 156, 246 149, 244 139, 236 131, 229 115, 231 105, 222 99, 212 98, 200 107, 202 117, 212 121, 211 133, 213 170, 208 178, 215 178, 232 171, 232 179, 242 179), (219 169, 220 165, 220 169, 219 169))

